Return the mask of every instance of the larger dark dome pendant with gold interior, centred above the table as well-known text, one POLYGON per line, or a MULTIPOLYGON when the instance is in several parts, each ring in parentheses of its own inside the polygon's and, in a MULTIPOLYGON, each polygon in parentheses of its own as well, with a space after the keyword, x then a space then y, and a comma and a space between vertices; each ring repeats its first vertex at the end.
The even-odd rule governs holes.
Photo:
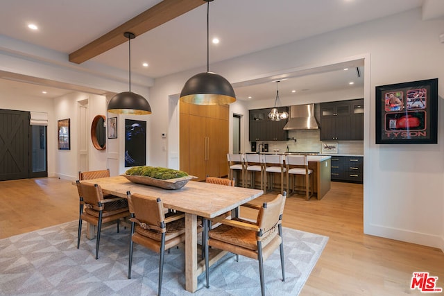
POLYGON ((219 74, 210 72, 209 16, 210 2, 207 2, 207 72, 198 73, 185 82, 180 101, 196 105, 225 105, 236 101, 234 89, 230 82, 219 74))

